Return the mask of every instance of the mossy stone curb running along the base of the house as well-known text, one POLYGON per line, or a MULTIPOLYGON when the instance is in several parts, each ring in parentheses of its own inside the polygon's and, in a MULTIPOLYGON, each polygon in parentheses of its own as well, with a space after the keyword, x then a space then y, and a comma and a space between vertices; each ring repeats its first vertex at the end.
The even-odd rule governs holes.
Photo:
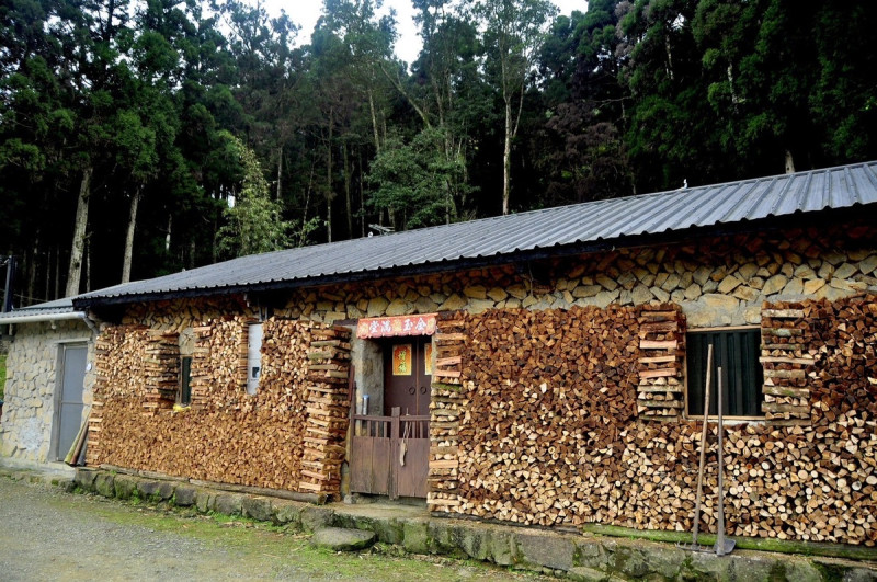
MULTIPOLYGON (((317 506, 95 469, 77 470, 68 489, 77 487, 107 498, 136 495, 307 533, 330 527, 372 532, 378 541, 401 546, 410 554, 476 559, 572 580, 877 581, 877 564, 870 562, 751 550, 718 558, 670 544, 431 517, 425 511, 422 517, 394 516, 391 509, 380 515, 363 515, 362 505, 317 506)), ((407 509, 400 513, 411 513, 407 509)))

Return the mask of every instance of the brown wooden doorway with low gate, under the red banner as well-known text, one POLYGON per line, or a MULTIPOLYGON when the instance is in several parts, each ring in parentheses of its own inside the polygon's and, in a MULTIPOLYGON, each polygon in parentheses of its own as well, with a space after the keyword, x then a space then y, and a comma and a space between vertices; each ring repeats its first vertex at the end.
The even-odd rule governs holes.
POLYGON ((353 414, 351 491, 425 498, 430 457, 432 338, 380 342, 383 414, 353 414))

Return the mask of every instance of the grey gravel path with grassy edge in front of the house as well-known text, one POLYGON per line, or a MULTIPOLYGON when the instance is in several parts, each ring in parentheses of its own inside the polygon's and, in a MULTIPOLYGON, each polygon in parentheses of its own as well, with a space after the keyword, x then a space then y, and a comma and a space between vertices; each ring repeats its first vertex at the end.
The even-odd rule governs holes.
MULTIPOLYGON (((373 551, 335 555, 244 521, 134 506, 0 478, 0 579, 509 580, 525 574, 373 551)), ((532 578, 531 578, 532 579, 532 578)))

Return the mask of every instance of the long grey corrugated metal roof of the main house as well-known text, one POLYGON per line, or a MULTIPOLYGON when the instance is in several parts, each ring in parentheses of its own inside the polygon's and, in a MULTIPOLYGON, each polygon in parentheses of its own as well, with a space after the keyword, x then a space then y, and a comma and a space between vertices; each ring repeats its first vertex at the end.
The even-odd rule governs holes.
MULTIPOLYGON (((625 198, 546 208, 438 227, 242 256, 76 298, 112 298, 259 287, 442 265, 572 244, 617 241, 692 227, 877 203, 877 161, 625 198)), ((81 303, 80 303, 81 301, 81 303)))

